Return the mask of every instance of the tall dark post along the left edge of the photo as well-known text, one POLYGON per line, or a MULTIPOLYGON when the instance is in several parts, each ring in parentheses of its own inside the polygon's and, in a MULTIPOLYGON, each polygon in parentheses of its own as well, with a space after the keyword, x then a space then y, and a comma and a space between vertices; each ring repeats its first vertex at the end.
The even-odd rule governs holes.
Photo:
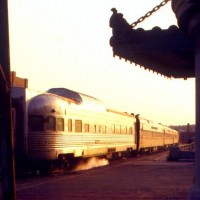
POLYGON ((0 0, 0 141, 3 200, 15 200, 8 1, 0 0))

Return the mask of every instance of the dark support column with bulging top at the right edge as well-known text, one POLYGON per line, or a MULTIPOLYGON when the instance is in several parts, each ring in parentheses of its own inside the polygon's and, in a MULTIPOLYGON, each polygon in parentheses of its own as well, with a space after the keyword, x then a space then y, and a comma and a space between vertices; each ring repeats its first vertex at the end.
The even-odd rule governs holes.
POLYGON ((200 1, 172 0, 180 29, 188 32, 195 41, 196 79, 196 130, 195 130, 195 177, 189 192, 190 200, 200 199, 200 1))

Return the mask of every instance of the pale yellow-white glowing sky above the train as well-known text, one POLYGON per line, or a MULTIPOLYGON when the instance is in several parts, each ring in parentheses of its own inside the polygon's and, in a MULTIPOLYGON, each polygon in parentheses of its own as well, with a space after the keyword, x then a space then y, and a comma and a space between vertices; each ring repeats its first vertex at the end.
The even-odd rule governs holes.
MULTIPOLYGON (((135 22, 161 0, 8 0, 11 70, 29 88, 65 87, 166 125, 195 123, 195 79, 169 79, 113 57, 111 8, 135 22)), ((167 29, 171 2, 136 28, 167 29)))

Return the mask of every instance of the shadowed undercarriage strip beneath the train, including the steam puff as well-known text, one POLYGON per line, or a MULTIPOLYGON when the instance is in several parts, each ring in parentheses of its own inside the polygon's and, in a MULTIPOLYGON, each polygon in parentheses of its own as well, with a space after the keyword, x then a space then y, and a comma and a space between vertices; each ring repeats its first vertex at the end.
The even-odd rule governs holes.
POLYGON ((139 151, 128 148, 126 151, 115 152, 110 150, 106 155, 95 155, 88 157, 74 157, 73 154, 60 154, 56 160, 31 161, 26 159, 16 159, 16 175, 17 177, 23 177, 28 175, 47 175, 70 172, 77 169, 77 166, 79 165, 86 165, 91 159, 95 159, 95 161, 93 160, 93 163, 90 164, 92 168, 103 166, 105 163, 108 164, 113 160, 141 157, 153 153, 163 152, 168 149, 169 146, 141 148, 139 151))

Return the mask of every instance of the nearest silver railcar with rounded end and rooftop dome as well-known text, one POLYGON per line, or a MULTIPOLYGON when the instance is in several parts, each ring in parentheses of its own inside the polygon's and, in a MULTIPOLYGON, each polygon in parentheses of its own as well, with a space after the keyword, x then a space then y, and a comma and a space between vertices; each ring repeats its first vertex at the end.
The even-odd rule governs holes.
POLYGON ((29 102, 29 159, 66 160, 136 149, 132 115, 108 111, 98 99, 87 95, 56 91, 65 97, 47 93, 29 102))

